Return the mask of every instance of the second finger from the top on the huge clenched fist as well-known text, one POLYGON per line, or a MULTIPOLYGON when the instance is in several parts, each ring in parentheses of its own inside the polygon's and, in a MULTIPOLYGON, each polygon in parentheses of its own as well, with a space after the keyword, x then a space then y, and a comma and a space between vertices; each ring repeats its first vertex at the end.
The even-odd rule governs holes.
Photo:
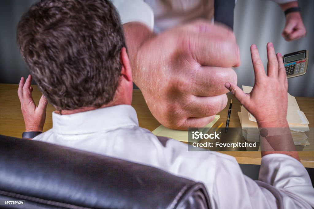
POLYGON ((237 83, 236 72, 227 67, 201 66, 189 77, 188 89, 195 96, 226 94, 229 91, 225 88, 225 83, 227 81, 237 83))

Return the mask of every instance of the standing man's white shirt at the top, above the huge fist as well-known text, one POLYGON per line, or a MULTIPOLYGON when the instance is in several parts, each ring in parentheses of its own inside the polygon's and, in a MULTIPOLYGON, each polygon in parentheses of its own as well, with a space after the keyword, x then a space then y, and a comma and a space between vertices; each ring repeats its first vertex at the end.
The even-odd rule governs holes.
MULTIPOLYGON (((122 24, 141 22, 160 33, 194 19, 213 21, 215 0, 110 0, 120 14, 122 24)), ((217 0, 218 1, 218 0, 217 0)), ((295 0, 272 0, 282 4, 295 0)), ((235 0, 236 2, 236 0, 235 0)))

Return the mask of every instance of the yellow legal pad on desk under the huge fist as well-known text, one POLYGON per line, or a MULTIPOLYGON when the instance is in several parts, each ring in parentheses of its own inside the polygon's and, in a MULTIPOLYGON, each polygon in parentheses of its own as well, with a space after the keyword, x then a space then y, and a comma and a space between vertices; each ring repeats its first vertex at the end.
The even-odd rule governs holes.
MULTIPOLYGON (((208 130, 200 130, 203 133, 209 131, 211 127, 214 126, 214 124, 218 121, 220 118, 220 115, 216 115, 214 120, 210 123, 208 123, 204 129, 207 128, 208 130)), ((161 137, 168 137, 172 139, 176 139, 180 142, 187 142, 187 131, 180 131, 180 130, 174 130, 170 128, 166 128, 163 125, 158 126, 152 133, 156 136, 161 136, 161 137)))

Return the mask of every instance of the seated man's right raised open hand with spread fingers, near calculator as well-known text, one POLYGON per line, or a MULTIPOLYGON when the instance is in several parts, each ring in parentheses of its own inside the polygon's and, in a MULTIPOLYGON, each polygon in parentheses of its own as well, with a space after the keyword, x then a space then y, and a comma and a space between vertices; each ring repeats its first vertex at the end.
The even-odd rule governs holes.
POLYGON ((273 43, 267 44, 267 75, 254 44, 251 56, 255 74, 252 92, 245 94, 232 82, 227 82, 225 87, 254 115, 258 127, 288 127, 288 81, 282 55, 275 54, 273 43))

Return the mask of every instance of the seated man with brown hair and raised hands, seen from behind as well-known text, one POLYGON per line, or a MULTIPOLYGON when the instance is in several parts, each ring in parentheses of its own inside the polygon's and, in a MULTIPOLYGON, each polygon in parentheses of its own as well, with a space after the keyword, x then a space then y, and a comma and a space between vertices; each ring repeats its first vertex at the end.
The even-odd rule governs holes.
MULTIPOLYGON (((21 18, 17 40, 44 95, 36 107, 32 77, 21 78, 18 94, 26 133, 42 131, 47 100, 57 110, 52 115, 53 128, 34 140, 142 163, 203 182, 213 208, 314 206, 314 189, 296 152, 262 152, 259 181, 253 181, 229 155, 188 152, 186 144, 159 140, 140 128, 131 106, 132 72, 122 27, 109 1, 36 3, 21 18)), ((256 75, 251 94, 244 94, 234 83, 225 86, 252 112, 259 127, 288 127, 287 105, 282 105, 287 103, 283 61, 280 54, 276 57, 272 43, 267 49, 268 75, 256 46, 251 47, 256 75), (266 98, 272 99, 265 103, 266 98), (275 117, 276 123, 269 117, 275 117)), ((292 138, 285 144, 293 147, 292 138)))

